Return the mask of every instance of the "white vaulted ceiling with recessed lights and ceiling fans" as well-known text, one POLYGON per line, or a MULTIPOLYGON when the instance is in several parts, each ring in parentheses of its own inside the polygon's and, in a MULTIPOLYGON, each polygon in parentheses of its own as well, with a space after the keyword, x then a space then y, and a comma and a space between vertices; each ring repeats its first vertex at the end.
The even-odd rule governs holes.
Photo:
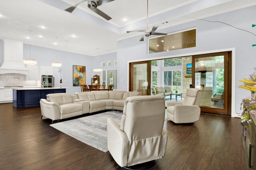
MULTIPOLYGON (((64 11, 80 0, 0 0, 0 38, 95 56, 116 51, 116 41, 143 33, 147 0, 114 0, 98 8, 112 17, 106 21, 84 2, 73 13, 64 11), (123 19, 127 18, 127 21, 123 19), (40 28, 42 25, 46 29, 40 28), (39 37, 42 35, 43 37, 39 37), (75 35, 75 37, 72 37, 75 35), (54 45, 58 37, 57 45, 54 45), (99 48, 97 50, 97 48, 99 48)), ((149 0, 149 25, 161 29, 232 10, 256 5, 255 0, 149 0), (168 23, 162 24, 162 22, 168 23)), ((142 42, 143 43, 143 42, 142 42)))

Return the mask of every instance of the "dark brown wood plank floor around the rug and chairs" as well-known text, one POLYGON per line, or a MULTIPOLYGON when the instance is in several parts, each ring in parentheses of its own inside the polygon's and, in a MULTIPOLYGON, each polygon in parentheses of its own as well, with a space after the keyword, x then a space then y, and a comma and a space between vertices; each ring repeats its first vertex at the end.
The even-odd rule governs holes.
MULTIPOLYGON (((50 127, 40 107, 0 104, 0 169, 121 169, 104 153, 50 127)), ((242 127, 238 118, 201 114, 193 125, 167 120, 165 158, 153 170, 243 170, 242 127)))

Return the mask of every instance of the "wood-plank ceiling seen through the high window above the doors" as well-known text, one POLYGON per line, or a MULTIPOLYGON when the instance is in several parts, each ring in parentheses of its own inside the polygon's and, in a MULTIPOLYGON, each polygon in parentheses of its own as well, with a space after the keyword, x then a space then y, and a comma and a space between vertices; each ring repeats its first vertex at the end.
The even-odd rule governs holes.
POLYGON ((196 47, 196 29, 149 40, 149 50, 154 51, 155 53, 190 47, 196 47), (164 42, 162 42, 162 40, 164 42))

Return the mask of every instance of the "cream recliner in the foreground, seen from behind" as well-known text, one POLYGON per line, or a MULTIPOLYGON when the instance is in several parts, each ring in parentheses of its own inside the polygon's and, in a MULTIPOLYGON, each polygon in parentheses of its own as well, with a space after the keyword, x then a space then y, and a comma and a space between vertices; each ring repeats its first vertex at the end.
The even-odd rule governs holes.
POLYGON ((120 126, 108 118, 108 150, 121 167, 163 158, 164 96, 134 96, 124 103, 120 126))

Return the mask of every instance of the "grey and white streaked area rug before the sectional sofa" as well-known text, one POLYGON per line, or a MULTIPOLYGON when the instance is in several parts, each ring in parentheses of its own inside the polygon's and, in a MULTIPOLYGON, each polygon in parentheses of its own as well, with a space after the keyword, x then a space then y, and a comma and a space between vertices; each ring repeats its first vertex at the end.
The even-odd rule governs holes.
POLYGON ((122 112, 108 111, 78 119, 54 123, 50 126, 86 143, 96 149, 108 152, 107 119, 121 122, 122 112))

